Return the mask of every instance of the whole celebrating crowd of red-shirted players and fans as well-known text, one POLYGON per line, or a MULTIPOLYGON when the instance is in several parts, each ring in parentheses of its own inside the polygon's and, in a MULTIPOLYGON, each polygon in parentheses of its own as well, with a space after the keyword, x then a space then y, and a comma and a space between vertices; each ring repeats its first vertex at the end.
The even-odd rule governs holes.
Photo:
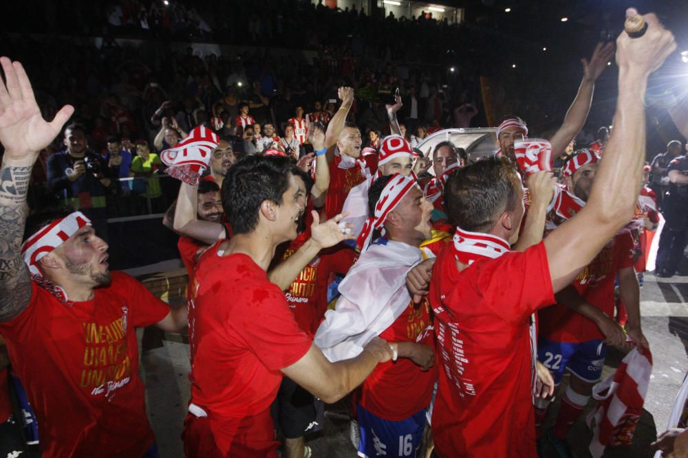
MULTIPOLYGON (((545 441, 571 456, 567 435, 606 345, 651 360, 637 274, 658 207, 646 186, 643 93, 676 44, 654 14, 643 20, 644 34, 622 32, 583 61, 548 139, 529 139, 524 119, 508 115, 484 158, 451 141, 413 148, 477 111, 426 80, 385 101, 348 86, 323 99, 307 86, 273 97, 275 78, 259 66, 240 98, 238 67, 221 77, 219 62, 189 53, 167 62, 181 104, 158 82, 132 95, 131 67, 85 126, 71 104, 42 112, 23 65, 0 58, 0 363, 21 380, 41 452, 158 456, 136 339, 155 325, 189 333, 191 400, 178 419, 189 457, 308 457, 305 436, 345 397, 359 456, 535 457, 545 441), (575 150, 614 54, 611 134, 575 150), (455 104, 453 122, 443 102, 455 104), (65 149, 48 149, 56 144, 65 149), (28 205, 41 169, 54 211, 28 205), (136 176, 140 189, 127 181, 136 176), (166 182, 174 203, 162 198, 166 182), (109 269, 109 208, 133 211, 142 195, 180 236, 186 306, 109 269), (557 419, 543 431, 554 396, 557 419)), ((688 111, 674 119, 688 130, 688 111)), ((647 169, 668 177, 663 207, 676 209, 688 159, 667 148, 671 157, 647 169)), ((665 227, 658 263, 673 275, 685 217, 665 227)), ((0 372, 0 415, 10 417, 0 452, 10 453, 21 449, 5 380, 0 372)))

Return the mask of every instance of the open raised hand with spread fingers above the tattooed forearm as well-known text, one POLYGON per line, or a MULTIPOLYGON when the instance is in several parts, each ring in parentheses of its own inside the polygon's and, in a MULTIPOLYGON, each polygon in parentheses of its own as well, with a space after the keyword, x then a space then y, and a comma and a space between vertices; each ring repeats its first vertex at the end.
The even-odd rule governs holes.
POLYGON ((39 152, 57 137, 74 107, 65 105, 52 122, 46 122, 26 72, 19 62, 1 57, 5 84, 0 81, 0 144, 8 159, 36 160, 39 152))

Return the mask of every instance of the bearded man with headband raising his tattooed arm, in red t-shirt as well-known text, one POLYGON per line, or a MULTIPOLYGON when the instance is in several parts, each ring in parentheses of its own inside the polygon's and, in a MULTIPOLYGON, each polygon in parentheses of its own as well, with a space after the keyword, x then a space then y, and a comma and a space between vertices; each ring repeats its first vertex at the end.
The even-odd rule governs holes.
POLYGON ((107 244, 79 212, 48 225, 37 217, 20 247, 32 166, 74 108, 45 122, 21 64, 0 64, 0 334, 41 425, 41 452, 143 456, 154 437, 136 328, 177 331, 186 308, 170 310, 129 275, 110 273, 107 244))

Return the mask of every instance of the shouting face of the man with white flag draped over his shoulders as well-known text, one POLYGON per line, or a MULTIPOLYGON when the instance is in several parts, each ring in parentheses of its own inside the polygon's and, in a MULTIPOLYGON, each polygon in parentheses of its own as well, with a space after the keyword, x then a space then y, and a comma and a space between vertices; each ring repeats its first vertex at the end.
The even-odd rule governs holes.
POLYGON ((432 210, 433 205, 425 200, 420 187, 414 186, 389 212, 385 229, 392 240, 411 242, 417 246, 432 236, 432 210))

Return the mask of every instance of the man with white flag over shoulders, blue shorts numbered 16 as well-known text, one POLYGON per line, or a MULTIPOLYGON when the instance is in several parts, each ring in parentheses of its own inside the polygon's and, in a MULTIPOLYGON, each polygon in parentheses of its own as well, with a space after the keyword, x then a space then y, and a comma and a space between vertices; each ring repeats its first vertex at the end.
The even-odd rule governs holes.
POLYGON ((433 207, 404 174, 374 181, 368 207, 372 216, 357 243, 361 256, 339 285, 336 309, 325 314, 314 342, 330 360, 356 356, 375 336, 398 343, 398 360, 378 365, 361 386, 358 455, 413 456, 436 371, 429 303, 413 303, 405 277, 424 257, 418 247, 431 237, 433 207), (370 244, 376 230, 383 235, 370 244))

